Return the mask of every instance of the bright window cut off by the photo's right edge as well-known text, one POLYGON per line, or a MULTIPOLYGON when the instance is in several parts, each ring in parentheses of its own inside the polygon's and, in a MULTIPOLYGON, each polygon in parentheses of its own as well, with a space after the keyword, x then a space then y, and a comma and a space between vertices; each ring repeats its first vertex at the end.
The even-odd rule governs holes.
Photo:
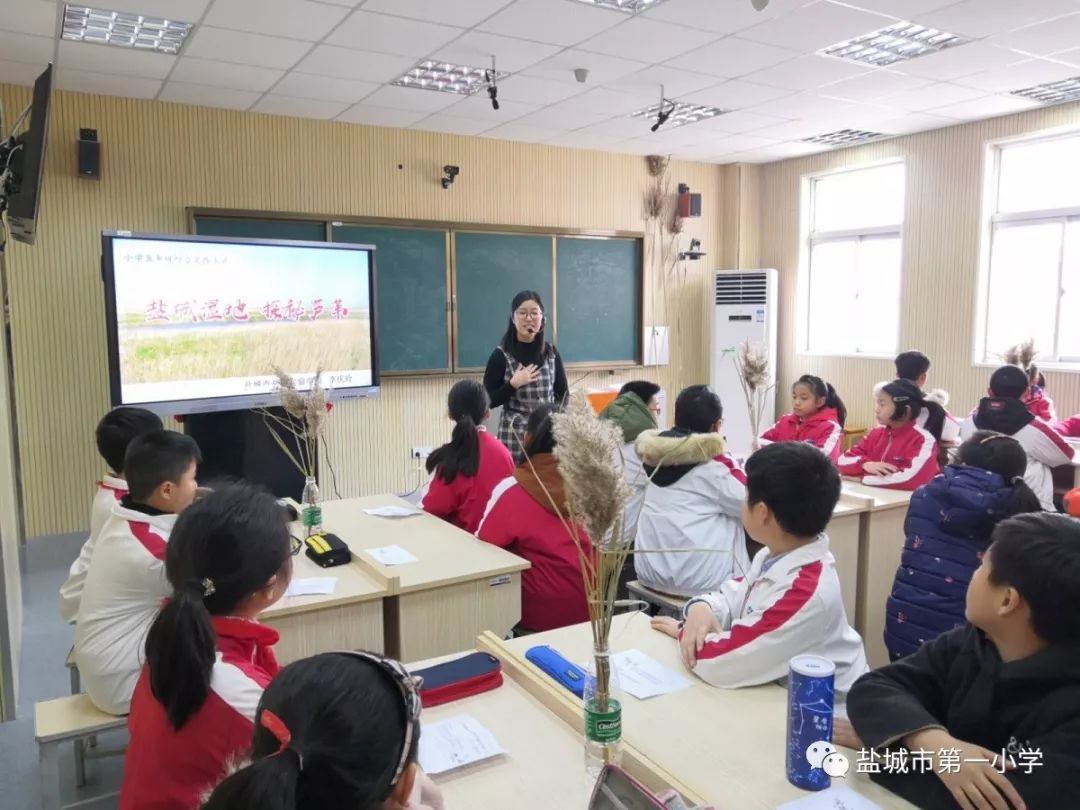
POLYGON ((1080 364, 1080 134, 995 146, 989 172, 976 359, 1031 338, 1043 362, 1080 364))

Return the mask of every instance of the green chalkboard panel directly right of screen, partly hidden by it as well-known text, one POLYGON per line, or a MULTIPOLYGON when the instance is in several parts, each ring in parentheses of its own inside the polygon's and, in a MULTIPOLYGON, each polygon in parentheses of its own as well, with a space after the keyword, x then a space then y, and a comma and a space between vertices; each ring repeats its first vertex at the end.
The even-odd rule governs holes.
POLYGON ((343 225, 332 238, 375 245, 380 370, 448 372, 446 231, 343 225))

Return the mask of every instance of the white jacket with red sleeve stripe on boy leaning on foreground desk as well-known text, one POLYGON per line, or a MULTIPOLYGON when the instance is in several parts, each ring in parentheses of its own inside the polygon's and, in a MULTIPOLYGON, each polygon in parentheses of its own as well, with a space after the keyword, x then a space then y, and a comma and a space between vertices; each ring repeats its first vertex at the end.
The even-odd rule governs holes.
POLYGON ((847 692, 867 671, 863 639, 848 623, 828 537, 779 556, 762 549, 745 578, 696 596, 721 633, 705 637, 693 673, 713 686, 737 688, 787 676, 795 656, 816 654, 836 664, 836 689, 847 692))

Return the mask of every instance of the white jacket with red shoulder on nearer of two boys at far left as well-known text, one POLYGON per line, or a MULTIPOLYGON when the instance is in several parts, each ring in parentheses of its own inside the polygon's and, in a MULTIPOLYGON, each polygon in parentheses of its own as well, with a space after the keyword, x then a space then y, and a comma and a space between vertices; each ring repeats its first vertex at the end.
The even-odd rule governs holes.
MULTIPOLYGON (((141 508, 145 509, 145 508, 141 508)), ((176 515, 147 514, 130 497, 112 507, 94 546, 75 625, 75 660, 94 705, 127 714, 146 634, 172 589, 165 548, 176 515)))

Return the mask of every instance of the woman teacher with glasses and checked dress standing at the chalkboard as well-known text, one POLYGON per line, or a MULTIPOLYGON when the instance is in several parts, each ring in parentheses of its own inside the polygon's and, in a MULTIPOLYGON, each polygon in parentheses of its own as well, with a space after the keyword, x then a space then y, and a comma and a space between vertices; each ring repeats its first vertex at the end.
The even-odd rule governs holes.
POLYGON ((566 399, 566 369, 554 346, 544 339, 543 300, 526 289, 514 296, 502 342, 487 359, 484 388, 491 407, 502 406, 499 441, 516 463, 525 460, 521 443, 529 414, 540 405, 566 399))

